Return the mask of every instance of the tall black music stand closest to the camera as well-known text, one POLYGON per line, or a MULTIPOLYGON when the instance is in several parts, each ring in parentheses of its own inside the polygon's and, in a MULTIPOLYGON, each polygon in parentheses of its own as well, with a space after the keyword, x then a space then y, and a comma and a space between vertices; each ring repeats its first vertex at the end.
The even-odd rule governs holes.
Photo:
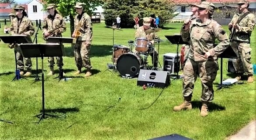
POLYGON ((42 59, 42 112, 35 115, 40 118, 38 123, 45 119, 45 116, 58 117, 45 113, 44 57, 62 57, 62 46, 59 43, 21 44, 21 50, 24 57, 41 57, 42 59))

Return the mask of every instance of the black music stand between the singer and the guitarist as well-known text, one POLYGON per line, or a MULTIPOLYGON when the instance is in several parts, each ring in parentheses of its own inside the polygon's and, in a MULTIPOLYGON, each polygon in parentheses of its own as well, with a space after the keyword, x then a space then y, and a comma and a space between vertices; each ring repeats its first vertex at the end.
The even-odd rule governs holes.
POLYGON ((234 50, 232 49, 231 46, 228 46, 228 48, 226 50, 224 50, 223 53, 221 53, 219 56, 219 58, 221 58, 221 83, 218 84, 218 88, 217 90, 220 90, 222 87, 228 87, 227 85, 223 85, 222 84, 222 64, 223 64, 223 58, 232 58, 232 59, 237 59, 237 55, 235 54, 234 50))

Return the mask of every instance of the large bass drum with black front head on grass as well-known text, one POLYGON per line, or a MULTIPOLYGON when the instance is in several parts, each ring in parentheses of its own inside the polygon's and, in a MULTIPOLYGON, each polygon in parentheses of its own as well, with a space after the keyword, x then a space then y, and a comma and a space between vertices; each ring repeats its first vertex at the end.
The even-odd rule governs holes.
POLYGON ((117 60, 117 70, 123 77, 135 77, 142 67, 142 57, 137 53, 125 53, 117 60))

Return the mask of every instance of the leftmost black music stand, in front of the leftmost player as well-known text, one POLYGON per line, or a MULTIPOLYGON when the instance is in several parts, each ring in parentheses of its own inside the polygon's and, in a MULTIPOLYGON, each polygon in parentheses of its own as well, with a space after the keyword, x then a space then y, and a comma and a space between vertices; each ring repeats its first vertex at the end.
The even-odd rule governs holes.
MULTIPOLYGON (((25 35, 13 35, 13 36, 0 36, 0 39, 3 40, 4 43, 32 43, 31 37, 25 36, 25 35)), ((20 76, 20 73, 18 73, 18 68, 17 68, 17 57, 16 57, 16 45, 14 45, 14 56, 15 56, 15 77, 12 81, 14 80, 19 80, 21 78, 27 79, 25 77, 20 76)))

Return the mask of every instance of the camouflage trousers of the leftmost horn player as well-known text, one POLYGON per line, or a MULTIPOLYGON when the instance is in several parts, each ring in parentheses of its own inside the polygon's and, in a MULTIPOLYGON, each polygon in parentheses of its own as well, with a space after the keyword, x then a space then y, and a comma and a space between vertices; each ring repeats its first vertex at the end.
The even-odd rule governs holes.
POLYGON ((16 45, 16 58, 17 58, 17 68, 19 70, 24 70, 26 68, 27 70, 32 69, 32 62, 30 58, 24 58, 21 54, 21 47, 16 45), (25 66, 24 66, 24 60, 25 60, 25 66))

